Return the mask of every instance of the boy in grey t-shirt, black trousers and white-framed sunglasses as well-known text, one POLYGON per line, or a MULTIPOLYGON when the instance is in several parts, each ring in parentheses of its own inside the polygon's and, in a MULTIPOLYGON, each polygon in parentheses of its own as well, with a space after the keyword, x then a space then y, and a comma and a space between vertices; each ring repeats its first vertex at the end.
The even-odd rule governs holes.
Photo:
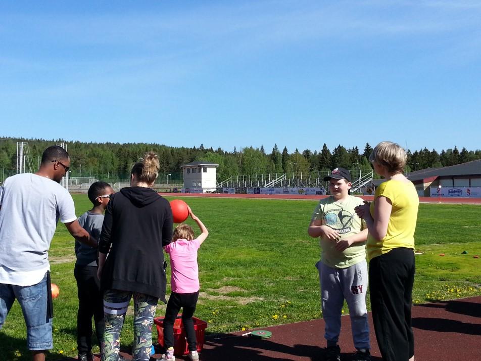
MULTIPOLYGON (((104 211, 114 194, 112 187, 105 182, 95 182, 88 189, 88 199, 93 207, 83 213, 78 222, 90 237, 99 240, 104 223, 104 211)), ((74 276, 78 288, 77 312, 77 349, 80 361, 92 361, 92 317, 95 323, 95 334, 102 341, 104 335, 104 306, 100 290, 100 280, 97 277, 98 249, 75 241, 74 276)), ((102 353, 102 350, 101 350, 102 353)))

